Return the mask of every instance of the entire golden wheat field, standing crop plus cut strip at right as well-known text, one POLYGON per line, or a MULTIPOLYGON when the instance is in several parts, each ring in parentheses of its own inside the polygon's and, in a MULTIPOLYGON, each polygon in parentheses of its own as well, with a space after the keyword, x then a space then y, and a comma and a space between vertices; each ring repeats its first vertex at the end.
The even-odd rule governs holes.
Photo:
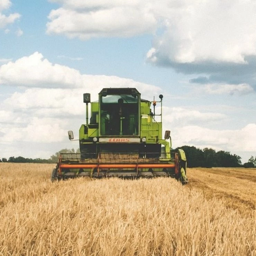
POLYGON ((54 165, 0 163, 0 255, 256 255, 256 170, 51 183, 54 165))

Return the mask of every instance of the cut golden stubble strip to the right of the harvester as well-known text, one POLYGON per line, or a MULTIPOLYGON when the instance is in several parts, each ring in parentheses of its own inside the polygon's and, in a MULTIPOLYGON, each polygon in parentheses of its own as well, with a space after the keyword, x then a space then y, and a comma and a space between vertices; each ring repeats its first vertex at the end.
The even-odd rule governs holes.
POLYGON ((203 191, 207 198, 223 198, 244 215, 256 209, 255 168, 193 168, 188 176, 188 187, 203 191))

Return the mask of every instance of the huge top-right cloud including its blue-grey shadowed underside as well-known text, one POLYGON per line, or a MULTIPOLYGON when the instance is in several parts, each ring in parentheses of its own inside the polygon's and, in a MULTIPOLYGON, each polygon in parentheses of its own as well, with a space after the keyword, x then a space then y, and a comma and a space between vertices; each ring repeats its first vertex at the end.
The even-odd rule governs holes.
POLYGON ((256 2, 184 0, 176 10, 167 8, 164 32, 155 37, 148 62, 184 74, 208 74, 191 82, 256 88, 256 2))

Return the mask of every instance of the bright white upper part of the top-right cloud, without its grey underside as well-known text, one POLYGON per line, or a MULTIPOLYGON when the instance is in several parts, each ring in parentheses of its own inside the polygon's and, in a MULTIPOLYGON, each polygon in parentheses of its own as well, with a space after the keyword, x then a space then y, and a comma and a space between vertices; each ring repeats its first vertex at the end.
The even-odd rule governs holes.
POLYGON ((176 8, 161 6, 165 31, 148 52, 150 61, 246 63, 245 55, 256 54, 256 2, 182 0, 176 8))

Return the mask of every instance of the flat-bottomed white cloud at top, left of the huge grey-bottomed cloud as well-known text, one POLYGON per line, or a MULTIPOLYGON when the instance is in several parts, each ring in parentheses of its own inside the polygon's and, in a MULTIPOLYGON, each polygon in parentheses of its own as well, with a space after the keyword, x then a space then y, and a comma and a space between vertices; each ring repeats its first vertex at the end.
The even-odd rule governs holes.
POLYGON ((143 1, 55 2, 63 4, 63 7, 49 14, 48 34, 64 34, 86 40, 154 33, 157 28, 150 4, 143 1))

